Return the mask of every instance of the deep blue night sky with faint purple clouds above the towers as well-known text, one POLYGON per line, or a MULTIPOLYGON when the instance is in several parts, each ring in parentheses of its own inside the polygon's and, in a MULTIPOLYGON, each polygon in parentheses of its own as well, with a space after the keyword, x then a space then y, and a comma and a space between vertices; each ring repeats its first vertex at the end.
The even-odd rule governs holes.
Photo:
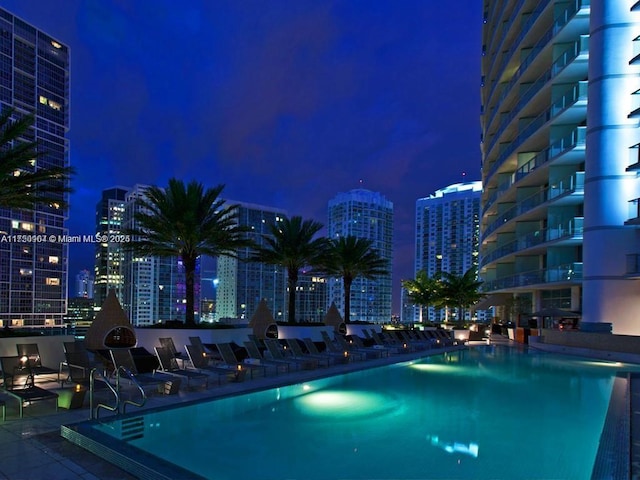
MULTIPOLYGON (((478 0, 2 0, 71 50, 69 234, 101 191, 171 177, 322 223, 338 192, 394 204, 394 308, 415 202, 480 179, 478 0)), ((76 273, 93 246, 71 245, 76 273)))

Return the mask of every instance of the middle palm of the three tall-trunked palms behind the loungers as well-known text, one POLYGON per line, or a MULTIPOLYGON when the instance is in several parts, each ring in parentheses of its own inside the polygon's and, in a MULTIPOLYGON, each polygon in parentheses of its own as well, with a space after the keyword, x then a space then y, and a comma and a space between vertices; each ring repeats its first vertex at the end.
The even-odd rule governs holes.
POLYGON ((304 267, 318 264, 327 240, 314 238, 323 225, 302 217, 284 217, 280 222, 270 225, 271 234, 263 235, 264 246, 258 246, 251 260, 269 265, 280 265, 287 269, 287 288, 289 290, 289 309, 287 320, 296 321, 296 288, 298 274, 304 267))

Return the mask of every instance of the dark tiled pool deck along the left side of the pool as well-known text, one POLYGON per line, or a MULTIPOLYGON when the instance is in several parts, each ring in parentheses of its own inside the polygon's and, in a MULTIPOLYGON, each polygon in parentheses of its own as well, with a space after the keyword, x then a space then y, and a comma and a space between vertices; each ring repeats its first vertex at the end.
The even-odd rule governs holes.
MULTIPOLYGON (((153 395, 140 410, 263 390, 279 385, 296 384, 365 368, 411 361, 460 348, 466 347, 393 354, 388 358, 296 371, 278 376, 255 378, 240 383, 227 383, 222 386, 209 387, 207 390, 200 388, 190 391, 180 390, 174 395, 153 395)), ((38 385, 54 390, 59 388, 59 385, 54 382, 49 384, 38 382, 38 385)), ((60 436, 61 425, 70 425, 89 419, 88 400, 85 400, 85 406, 81 409, 59 408, 57 412, 50 401, 36 402, 25 407, 24 417, 19 418, 18 401, 6 395, 3 395, 2 398, 7 404, 7 419, 0 423, 0 479, 133 480, 137 478, 60 436)), ((128 413, 132 411, 134 410, 128 409, 128 413)), ((108 419, 112 416, 110 412, 103 411, 100 418, 108 419)))

